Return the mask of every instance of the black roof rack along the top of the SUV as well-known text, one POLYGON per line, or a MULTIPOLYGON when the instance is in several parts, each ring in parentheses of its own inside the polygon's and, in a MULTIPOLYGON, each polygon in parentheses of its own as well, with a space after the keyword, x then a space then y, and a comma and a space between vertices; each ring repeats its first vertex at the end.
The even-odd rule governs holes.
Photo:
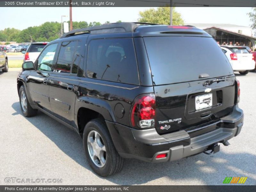
POLYGON ((100 26, 95 27, 87 27, 87 28, 81 28, 81 29, 75 29, 72 31, 69 31, 68 33, 65 33, 60 38, 65 38, 73 35, 78 34, 102 34, 102 33, 127 33, 127 32, 133 32, 136 27, 138 27, 137 24, 142 25, 158 25, 153 23, 141 23, 141 22, 122 22, 122 23, 108 23, 103 24, 100 26))

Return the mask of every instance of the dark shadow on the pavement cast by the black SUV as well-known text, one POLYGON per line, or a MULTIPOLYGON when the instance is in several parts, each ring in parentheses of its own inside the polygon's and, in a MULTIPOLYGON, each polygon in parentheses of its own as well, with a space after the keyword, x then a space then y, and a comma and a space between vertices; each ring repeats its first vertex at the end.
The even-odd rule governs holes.
MULTIPOLYGON (((20 103, 12 104, 15 113, 21 114, 20 103)), ((35 117, 26 118, 38 130, 52 140, 60 150, 71 157, 85 169, 92 171, 84 155, 83 142, 80 136, 42 112, 35 117)), ((224 146, 221 144, 221 148, 224 146)), ((231 147, 232 146, 228 146, 231 147)), ((199 154, 174 162, 146 163, 135 159, 127 159, 123 170, 111 177, 102 178, 118 185, 140 185, 163 177, 172 180, 200 180, 205 185, 221 185, 225 177, 248 177, 246 183, 256 184, 255 167, 249 153, 227 154, 220 152, 212 155, 199 154)), ((234 149, 235 151, 235 149, 234 149)), ((95 174, 95 173, 91 173, 95 174)), ((161 181, 158 183, 162 185, 161 181)), ((164 183, 163 185, 168 185, 164 183)), ((172 185, 172 183, 170 183, 172 185)))

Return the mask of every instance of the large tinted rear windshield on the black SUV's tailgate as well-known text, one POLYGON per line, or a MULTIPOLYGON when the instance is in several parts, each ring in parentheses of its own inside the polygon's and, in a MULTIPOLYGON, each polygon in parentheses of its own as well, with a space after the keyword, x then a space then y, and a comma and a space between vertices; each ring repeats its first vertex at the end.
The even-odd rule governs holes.
POLYGON ((199 80, 233 74, 220 46, 210 37, 144 37, 154 85, 199 80))

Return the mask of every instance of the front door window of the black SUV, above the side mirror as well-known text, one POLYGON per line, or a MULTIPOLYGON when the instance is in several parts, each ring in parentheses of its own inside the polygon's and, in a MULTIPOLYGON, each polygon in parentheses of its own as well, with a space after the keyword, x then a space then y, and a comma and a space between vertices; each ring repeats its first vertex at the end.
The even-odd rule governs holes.
POLYGON ((53 71, 52 64, 58 44, 47 46, 38 58, 37 70, 53 71))

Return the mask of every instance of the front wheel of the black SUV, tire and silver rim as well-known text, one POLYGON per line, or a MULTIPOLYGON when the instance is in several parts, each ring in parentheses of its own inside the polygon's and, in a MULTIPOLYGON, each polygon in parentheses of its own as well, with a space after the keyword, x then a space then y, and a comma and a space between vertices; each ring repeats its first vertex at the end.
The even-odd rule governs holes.
POLYGON ((20 96, 20 108, 23 115, 26 117, 35 116, 37 114, 37 109, 33 109, 29 104, 27 93, 23 85, 21 85, 20 87, 19 96, 20 96))

